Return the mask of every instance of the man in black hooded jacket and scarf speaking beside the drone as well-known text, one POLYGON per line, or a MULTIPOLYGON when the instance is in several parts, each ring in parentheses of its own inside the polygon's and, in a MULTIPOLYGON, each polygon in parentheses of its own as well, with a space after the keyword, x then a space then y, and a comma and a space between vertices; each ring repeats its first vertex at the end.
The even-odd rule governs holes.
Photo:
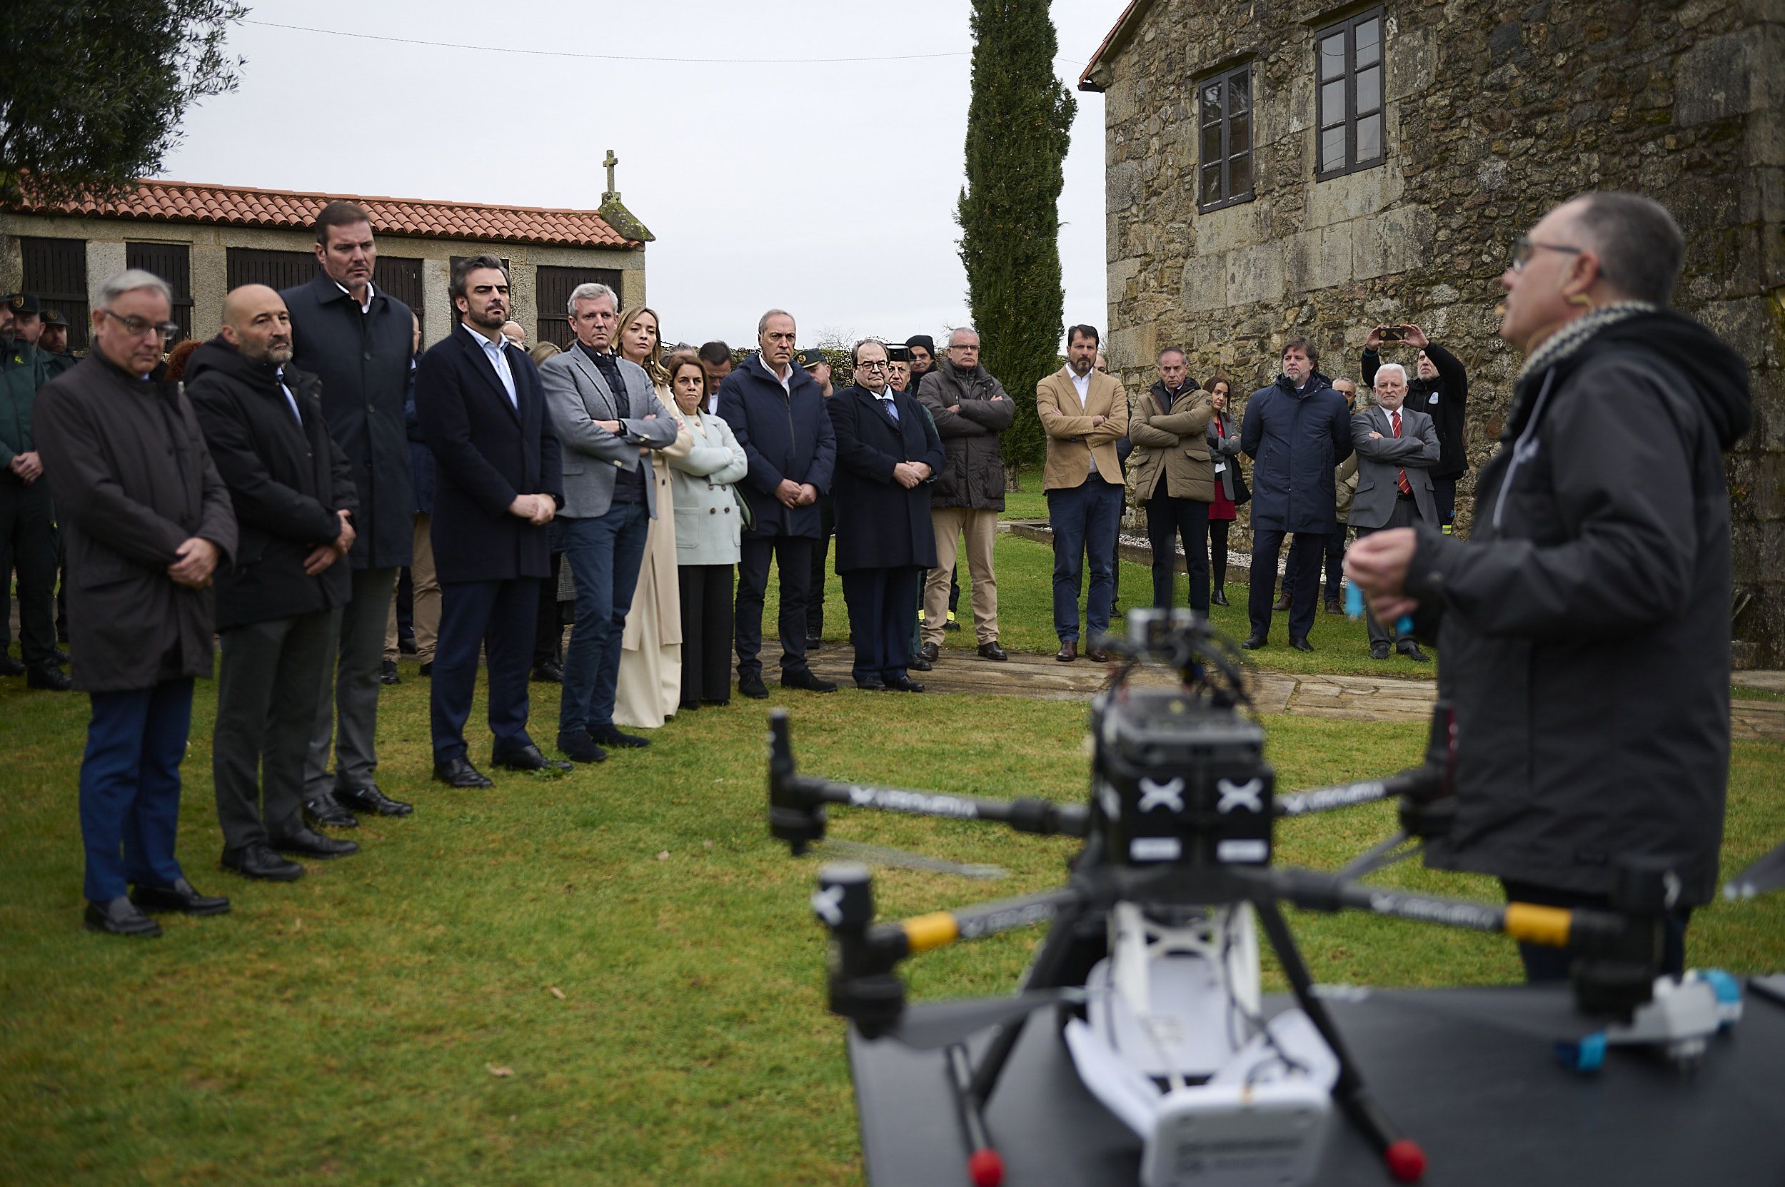
MULTIPOLYGON (((1433 866, 1507 896, 1605 907, 1628 859, 1673 875, 1664 967, 1717 885, 1730 771, 1730 489, 1748 364, 1667 311, 1685 241, 1667 211, 1589 193, 1514 248, 1499 336, 1526 355, 1469 539, 1351 546, 1394 621, 1440 612, 1457 710, 1457 821, 1433 866)), ((1526 976, 1569 955, 1521 944, 1526 976)))

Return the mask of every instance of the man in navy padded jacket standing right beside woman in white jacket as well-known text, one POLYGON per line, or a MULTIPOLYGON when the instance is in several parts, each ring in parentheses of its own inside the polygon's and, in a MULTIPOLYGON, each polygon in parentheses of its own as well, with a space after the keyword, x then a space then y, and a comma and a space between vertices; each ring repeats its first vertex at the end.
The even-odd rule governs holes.
MULTIPOLYGON (((744 446, 750 473, 737 484, 755 527, 744 532, 737 562, 737 691, 766 700, 762 684, 762 596, 769 560, 780 566, 782 687, 835 693, 805 664, 805 600, 812 544, 819 534, 818 496, 830 489, 837 443, 825 396, 805 368, 793 364, 793 314, 771 309, 757 321, 760 352, 719 384, 719 416, 744 446)), ((819 596, 823 591, 819 591, 819 596)))

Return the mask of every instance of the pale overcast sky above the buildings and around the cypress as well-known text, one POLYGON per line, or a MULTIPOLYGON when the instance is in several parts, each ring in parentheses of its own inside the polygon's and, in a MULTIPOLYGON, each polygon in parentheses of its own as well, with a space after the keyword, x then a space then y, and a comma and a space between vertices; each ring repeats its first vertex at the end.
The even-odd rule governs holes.
MULTIPOLYGON (((1125 4, 1053 4, 1067 86, 1125 4)), ((248 59, 241 89, 187 114, 161 175, 594 209, 612 148, 623 202, 657 236, 646 277, 668 341, 753 343, 771 305, 794 312, 801 343, 939 336, 969 320, 953 221, 967 12, 966 0, 262 0, 230 36, 248 59)), ((1066 321, 1101 325, 1103 96, 1075 95, 1066 321)))

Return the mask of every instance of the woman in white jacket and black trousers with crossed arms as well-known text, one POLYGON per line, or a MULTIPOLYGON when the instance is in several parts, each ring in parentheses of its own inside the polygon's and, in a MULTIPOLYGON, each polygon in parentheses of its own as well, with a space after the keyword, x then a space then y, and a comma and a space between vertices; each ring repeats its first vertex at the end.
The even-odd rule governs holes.
POLYGON ((669 459, 675 560, 682 594, 682 709, 732 700, 732 569, 741 516, 732 484, 750 471, 732 427, 707 407, 707 371, 694 355, 669 361, 675 411, 694 446, 669 459))

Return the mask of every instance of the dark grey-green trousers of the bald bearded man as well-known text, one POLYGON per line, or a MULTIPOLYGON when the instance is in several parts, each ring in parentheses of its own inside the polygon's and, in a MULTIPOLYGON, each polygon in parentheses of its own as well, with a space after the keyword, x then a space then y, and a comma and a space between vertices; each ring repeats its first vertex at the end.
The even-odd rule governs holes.
POLYGON ((303 826, 303 764, 316 728, 334 610, 223 632, 211 744, 223 846, 266 844, 303 826))

